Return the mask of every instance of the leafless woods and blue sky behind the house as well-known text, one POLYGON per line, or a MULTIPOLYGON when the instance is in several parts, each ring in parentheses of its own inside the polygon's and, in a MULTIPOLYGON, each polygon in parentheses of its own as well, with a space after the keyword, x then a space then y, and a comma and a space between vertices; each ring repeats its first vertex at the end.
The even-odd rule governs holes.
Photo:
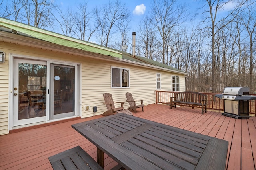
POLYGON ((188 91, 256 92, 255 0, 194 0, 196 10, 186 0, 150 0, 147 13, 144 4, 131 13, 124 0, 69 1, 65 10, 58 2, 0 0, 0 17, 118 50, 128 45, 128 53, 134 31, 136 55, 188 72, 188 91), (134 25, 136 13, 144 15, 134 25))

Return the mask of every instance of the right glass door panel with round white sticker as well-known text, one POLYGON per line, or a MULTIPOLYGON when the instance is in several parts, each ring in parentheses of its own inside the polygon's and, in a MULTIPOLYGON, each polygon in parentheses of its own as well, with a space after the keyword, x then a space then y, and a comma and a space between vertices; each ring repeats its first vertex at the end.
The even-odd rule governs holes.
POLYGON ((75 66, 50 64, 50 119, 75 115, 75 66), (53 71, 52 71, 53 70, 53 71))

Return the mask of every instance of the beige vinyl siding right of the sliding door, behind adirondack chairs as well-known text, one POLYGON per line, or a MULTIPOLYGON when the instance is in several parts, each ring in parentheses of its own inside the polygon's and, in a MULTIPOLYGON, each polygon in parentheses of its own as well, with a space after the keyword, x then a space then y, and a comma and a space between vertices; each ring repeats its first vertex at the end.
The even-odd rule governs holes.
MULTIPOLYGON (((97 106, 97 114, 102 114, 106 111, 104 106, 104 98, 102 94, 112 93, 114 101, 126 101, 126 92, 132 93, 135 99, 144 99, 144 104, 155 103, 156 90, 156 72, 150 68, 141 68, 130 64, 118 64, 106 61, 96 61, 93 59, 86 60, 82 63, 82 105, 90 106, 89 111, 82 111, 82 117, 92 115, 92 106, 97 106), (130 87, 128 88, 111 88, 111 66, 126 68, 130 70, 130 87), (93 70, 93 71, 92 71, 93 70)), ((171 90, 171 75, 170 72, 161 73, 161 90, 171 90)), ((180 76, 180 81, 184 82, 185 78, 180 76)), ((184 90, 185 86, 181 86, 184 90)), ((116 107, 120 104, 116 103, 116 107)), ((124 103, 124 108, 128 108, 128 102, 124 103)))

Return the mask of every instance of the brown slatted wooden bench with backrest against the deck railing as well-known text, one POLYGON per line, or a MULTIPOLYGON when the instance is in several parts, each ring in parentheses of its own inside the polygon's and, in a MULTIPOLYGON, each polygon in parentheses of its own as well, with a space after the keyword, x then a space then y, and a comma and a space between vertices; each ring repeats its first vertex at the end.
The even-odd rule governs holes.
POLYGON ((194 109, 194 106, 202 107, 202 114, 207 112, 206 103, 207 98, 206 94, 198 92, 177 92, 174 97, 170 98, 171 100, 171 109, 172 107, 176 108, 176 104, 180 106, 190 106, 194 109))

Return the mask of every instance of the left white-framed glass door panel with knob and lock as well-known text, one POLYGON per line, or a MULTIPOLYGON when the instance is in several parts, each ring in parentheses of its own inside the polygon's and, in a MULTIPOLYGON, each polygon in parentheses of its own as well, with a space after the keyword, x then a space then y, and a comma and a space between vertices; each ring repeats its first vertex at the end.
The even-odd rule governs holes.
POLYGON ((46 62, 14 59, 14 126, 46 120, 46 62))

